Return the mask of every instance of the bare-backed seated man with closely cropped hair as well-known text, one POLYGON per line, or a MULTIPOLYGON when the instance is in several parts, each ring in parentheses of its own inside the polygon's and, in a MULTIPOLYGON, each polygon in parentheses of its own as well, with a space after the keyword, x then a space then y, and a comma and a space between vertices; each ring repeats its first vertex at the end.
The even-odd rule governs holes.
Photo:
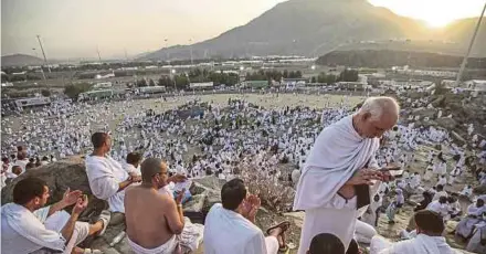
POLYGON ((183 216, 184 190, 175 200, 165 191, 168 181, 167 165, 148 158, 141 163, 141 184, 126 190, 128 243, 137 254, 172 254, 179 245, 196 251, 202 240, 203 225, 192 224, 183 216))

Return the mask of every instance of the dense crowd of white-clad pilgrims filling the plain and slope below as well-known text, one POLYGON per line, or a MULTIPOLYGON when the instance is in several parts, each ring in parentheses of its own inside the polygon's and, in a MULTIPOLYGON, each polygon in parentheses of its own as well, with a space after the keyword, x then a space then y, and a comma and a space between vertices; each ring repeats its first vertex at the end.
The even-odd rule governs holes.
MULTIPOLYGON (((2 119, 2 126, 6 126, 2 131, 8 136, 2 140, 1 184, 6 186, 25 170, 35 170, 67 156, 87 154, 92 147, 91 134, 107 131, 114 140, 112 157, 123 161, 127 170, 137 170, 130 165, 130 159, 127 160, 127 157, 136 155, 162 158, 170 172, 189 178, 215 174, 230 180, 237 174, 234 169, 241 159, 252 158, 257 165, 255 170, 262 172, 279 163, 293 165, 295 169, 292 172, 267 170, 262 176, 295 186, 320 130, 353 110, 347 106, 347 99, 344 96, 339 107, 330 107, 327 103, 323 110, 288 106, 265 109, 242 98, 230 98, 228 105, 194 99, 161 114, 142 107, 134 115, 127 115, 123 109, 134 106, 136 100, 129 99, 116 108, 107 102, 95 105, 55 103, 21 118, 22 129, 19 131, 12 131, 8 118, 2 119), (189 118, 186 119, 186 116, 189 118), (110 121, 117 121, 116 127, 110 127, 110 121)), ((423 106, 425 102, 422 98, 413 103, 423 106)), ((473 147, 486 147, 485 140, 477 140, 472 127, 468 134, 474 137, 473 147)), ((402 205, 411 197, 422 195, 415 211, 427 209, 442 214, 444 220, 461 220, 456 234, 466 240, 473 239, 474 243, 480 241, 482 226, 486 225, 486 195, 475 197, 473 183, 464 183, 459 179, 464 172, 471 171, 471 161, 478 161, 479 166, 485 163, 485 151, 467 151, 456 146, 446 130, 414 127, 414 124, 399 124, 385 134, 383 140, 377 161, 382 167, 395 163, 403 170, 395 181, 381 184, 361 220, 377 226, 380 213, 384 212, 389 223, 394 223, 402 205), (433 147, 437 144, 444 149, 429 150, 426 167, 410 172, 409 169, 420 160, 414 154, 419 146, 433 147), (462 184, 462 191, 447 192, 452 184, 462 184), (466 214, 462 212, 459 197, 473 202, 466 214)), ((473 174, 479 183, 486 183, 485 171, 475 170, 473 174)), ((401 233, 402 237, 413 234, 413 231, 401 233)))

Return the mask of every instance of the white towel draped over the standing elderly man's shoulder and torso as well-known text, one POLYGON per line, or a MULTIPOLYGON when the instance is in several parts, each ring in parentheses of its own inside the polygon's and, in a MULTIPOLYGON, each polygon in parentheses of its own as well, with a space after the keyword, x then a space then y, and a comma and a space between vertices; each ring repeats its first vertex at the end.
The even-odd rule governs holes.
POLYGON ((353 173, 369 162, 376 167, 378 138, 362 138, 347 116, 316 139, 297 184, 294 210, 330 208, 332 198, 353 173))

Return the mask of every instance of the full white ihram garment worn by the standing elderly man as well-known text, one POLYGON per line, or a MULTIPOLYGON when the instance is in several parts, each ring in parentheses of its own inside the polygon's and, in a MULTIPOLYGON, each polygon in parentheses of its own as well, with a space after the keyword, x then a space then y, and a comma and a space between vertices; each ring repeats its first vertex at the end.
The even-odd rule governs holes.
POLYGON ((359 215, 357 198, 345 200, 337 192, 368 162, 369 168, 377 168, 373 154, 378 148, 378 138, 367 139, 358 135, 352 127, 352 116, 319 134, 294 200, 294 210, 306 212, 298 254, 305 254, 311 239, 319 233, 335 234, 348 248, 359 215))

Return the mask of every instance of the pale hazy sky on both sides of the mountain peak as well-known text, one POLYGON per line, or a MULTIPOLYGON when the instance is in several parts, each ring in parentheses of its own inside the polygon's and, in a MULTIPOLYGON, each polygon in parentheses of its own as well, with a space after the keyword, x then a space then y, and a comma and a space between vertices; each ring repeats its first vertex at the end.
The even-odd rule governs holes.
MULTIPOLYGON (((122 56, 203 41, 247 23, 285 0, 1 0, 1 54, 122 56)), ((324 2, 325 0, 323 0, 324 2)), ((369 0, 441 25, 480 13, 486 0, 369 0), (437 11, 430 11, 430 10, 437 11)))

